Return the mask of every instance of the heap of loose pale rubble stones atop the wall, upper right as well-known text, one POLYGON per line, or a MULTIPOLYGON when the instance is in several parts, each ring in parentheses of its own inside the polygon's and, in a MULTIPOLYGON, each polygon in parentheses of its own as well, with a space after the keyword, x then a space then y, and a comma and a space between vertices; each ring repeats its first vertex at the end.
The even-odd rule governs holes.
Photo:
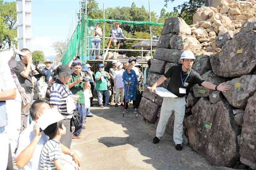
POLYGON ((219 52, 223 35, 231 37, 239 32, 245 20, 256 15, 254 0, 213 0, 212 7, 198 8, 190 25, 192 36, 200 41, 202 49, 208 52, 219 52), (220 42, 219 42, 220 43, 220 42))

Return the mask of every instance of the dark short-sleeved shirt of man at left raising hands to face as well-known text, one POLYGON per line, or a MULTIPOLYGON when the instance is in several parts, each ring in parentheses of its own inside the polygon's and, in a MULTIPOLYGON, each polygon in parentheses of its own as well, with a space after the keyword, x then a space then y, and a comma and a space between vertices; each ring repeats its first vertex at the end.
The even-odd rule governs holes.
POLYGON ((23 76, 20 75, 22 71, 25 70, 24 67, 27 67, 28 64, 21 63, 21 61, 17 62, 17 65, 15 68, 13 68, 15 74, 18 77, 18 80, 20 82, 20 85, 25 89, 26 93, 32 93, 33 92, 33 83, 32 83, 32 76, 33 72, 32 69, 30 69, 28 78, 24 78, 23 76))

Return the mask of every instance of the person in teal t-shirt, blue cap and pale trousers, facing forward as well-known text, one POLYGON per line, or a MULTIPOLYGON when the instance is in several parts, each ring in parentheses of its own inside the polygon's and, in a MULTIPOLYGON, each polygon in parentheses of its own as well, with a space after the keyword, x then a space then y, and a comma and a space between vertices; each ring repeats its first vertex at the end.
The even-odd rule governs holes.
POLYGON ((109 74, 104 71, 104 64, 99 64, 98 66, 99 71, 96 72, 95 74, 95 90, 97 90, 97 95, 98 95, 98 102, 100 105, 100 108, 105 107, 110 107, 112 105, 110 105, 108 103, 109 101, 109 91, 108 91, 108 79, 110 79, 109 74), (103 106, 102 102, 103 102, 103 94, 105 95, 105 104, 103 106))

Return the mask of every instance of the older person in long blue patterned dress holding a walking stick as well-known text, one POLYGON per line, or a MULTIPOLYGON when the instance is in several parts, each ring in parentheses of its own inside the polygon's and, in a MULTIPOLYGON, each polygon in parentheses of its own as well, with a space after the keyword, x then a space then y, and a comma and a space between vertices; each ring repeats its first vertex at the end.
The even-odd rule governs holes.
MULTIPOLYGON (((124 83, 124 113, 128 112, 128 102, 136 103, 137 85, 138 79, 134 70, 132 70, 133 65, 129 63, 126 71, 123 73, 123 83, 124 83)), ((134 112, 134 114, 136 114, 134 112)))

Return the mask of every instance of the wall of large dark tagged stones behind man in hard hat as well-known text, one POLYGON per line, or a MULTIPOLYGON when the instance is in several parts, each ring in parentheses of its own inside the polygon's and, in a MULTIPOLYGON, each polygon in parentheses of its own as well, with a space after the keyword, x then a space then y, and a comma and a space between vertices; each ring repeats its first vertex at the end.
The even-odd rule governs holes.
MULTIPOLYGON (((148 86, 172 65, 180 64, 183 50, 198 52, 197 40, 190 39, 188 28, 181 18, 165 21, 149 70, 148 86), (188 30, 187 34, 184 30, 188 30)), ((216 44, 222 49, 215 54, 195 53, 193 69, 204 80, 216 85, 226 82, 230 89, 219 92, 198 85, 191 88, 187 97, 187 113, 190 115, 184 120, 183 139, 186 141, 188 137, 189 145, 213 164, 230 167, 241 161, 256 169, 256 18, 246 20, 238 33, 221 36, 223 39, 216 44)), ((167 83, 162 86, 166 88, 167 83)), ((139 113, 157 125, 162 100, 146 88, 139 113)), ((174 115, 165 130, 171 136, 173 121, 174 115)))

